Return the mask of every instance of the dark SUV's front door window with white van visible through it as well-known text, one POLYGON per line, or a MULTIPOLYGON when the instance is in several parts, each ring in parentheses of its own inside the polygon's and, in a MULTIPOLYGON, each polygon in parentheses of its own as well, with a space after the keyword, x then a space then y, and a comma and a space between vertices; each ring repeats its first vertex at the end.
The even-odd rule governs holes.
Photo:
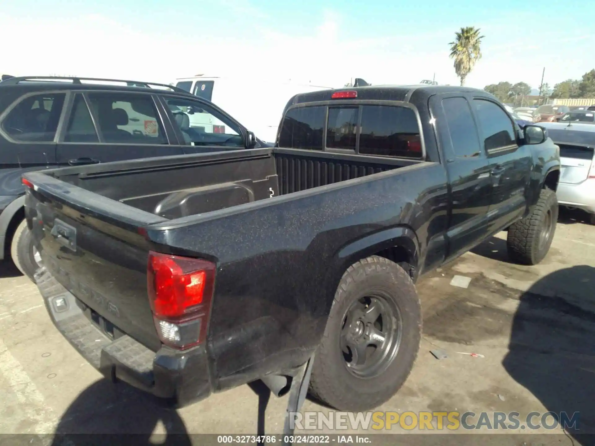
POLYGON ((195 100, 166 98, 186 145, 243 147, 240 128, 224 115, 195 100))

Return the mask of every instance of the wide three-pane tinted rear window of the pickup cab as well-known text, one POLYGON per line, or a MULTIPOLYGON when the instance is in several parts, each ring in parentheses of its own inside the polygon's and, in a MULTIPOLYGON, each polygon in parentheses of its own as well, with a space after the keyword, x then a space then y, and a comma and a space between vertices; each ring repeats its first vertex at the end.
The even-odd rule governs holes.
POLYGON ((417 115, 404 105, 291 108, 283 117, 278 146, 414 159, 423 155, 417 115))

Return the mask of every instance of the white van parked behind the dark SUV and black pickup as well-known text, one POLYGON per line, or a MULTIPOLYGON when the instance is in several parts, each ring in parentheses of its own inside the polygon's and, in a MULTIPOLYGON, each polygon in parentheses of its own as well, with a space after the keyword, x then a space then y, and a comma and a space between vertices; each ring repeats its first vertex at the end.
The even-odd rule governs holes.
MULTIPOLYGON (((292 96, 331 89, 292 81, 250 80, 245 77, 195 76, 178 78, 176 87, 210 100, 265 142, 277 139, 277 127, 283 108, 292 96)), ((223 123, 210 114, 190 115, 190 127, 202 127, 208 133, 228 133, 223 123)))

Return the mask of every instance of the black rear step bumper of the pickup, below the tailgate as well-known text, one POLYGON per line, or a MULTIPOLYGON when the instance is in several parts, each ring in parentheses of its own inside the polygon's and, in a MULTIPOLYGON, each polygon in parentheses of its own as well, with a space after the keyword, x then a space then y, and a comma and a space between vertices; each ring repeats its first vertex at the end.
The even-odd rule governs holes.
POLYGON ((127 382, 177 407, 211 394, 204 346, 183 352, 164 346, 155 353, 128 335, 113 339, 87 318, 77 298, 45 268, 35 279, 56 328, 108 379, 127 382))

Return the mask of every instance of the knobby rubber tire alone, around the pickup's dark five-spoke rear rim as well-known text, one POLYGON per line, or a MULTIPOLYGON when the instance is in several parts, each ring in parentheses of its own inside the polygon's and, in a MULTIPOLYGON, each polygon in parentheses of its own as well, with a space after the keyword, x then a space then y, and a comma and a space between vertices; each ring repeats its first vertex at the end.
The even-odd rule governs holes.
POLYGON ((337 287, 327 326, 314 358, 309 391, 338 410, 359 412, 389 400, 403 385, 417 357, 421 338, 421 304, 415 285, 403 268, 371 256, 350 266, 337 287), (382 291, 397 305, 402 331, 392 362, 373 378, 354 376, 340 348, 343 318, 353 302, 382 291))

